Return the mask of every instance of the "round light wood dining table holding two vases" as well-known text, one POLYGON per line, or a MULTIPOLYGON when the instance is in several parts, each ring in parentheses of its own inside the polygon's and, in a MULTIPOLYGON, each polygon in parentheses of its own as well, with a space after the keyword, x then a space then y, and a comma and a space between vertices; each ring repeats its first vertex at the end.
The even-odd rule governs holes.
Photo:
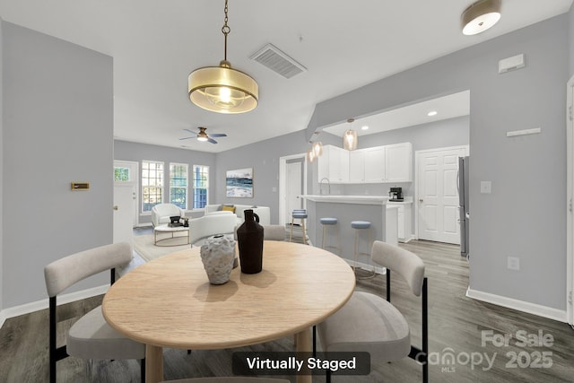
POLYGON ((309 352, 311 326, 340 309, 354 286, 341 257, 283 241, 265 241, 260 273, 237 267, 229 282, 213 285, 199 248, 189 248, 119 278, 102 311, 119 333, 146 344, 145 381, 157 383, 163 380, 163 347, 223 349, 295 335, 297 352, 309 352))

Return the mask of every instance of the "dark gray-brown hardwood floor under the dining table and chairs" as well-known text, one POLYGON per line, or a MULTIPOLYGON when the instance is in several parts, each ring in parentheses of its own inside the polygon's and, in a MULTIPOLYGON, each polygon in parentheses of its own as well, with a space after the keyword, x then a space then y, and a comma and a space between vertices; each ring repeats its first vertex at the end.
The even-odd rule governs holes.
MULTIPOLYGON (((569 325, 465 297, 468 264, 458 247, 427 241, 401 245, 418 254, 429 279, 429 347, 431 382, 572 382, 574 331, 569 325), (524 345, 520 339, 546 336, 544 345, 524 345), (508 344, 497 344, 504 336, 508 344), (550 338, 552 337, 552 342, 550 338), (494 340, 494 342, 492 341, 494 340), (484 341, 484 342, 483 342, 484 341), (450 356, 450 358, 449 358, 450 356)), ((385 294, 384 275, 359 280, 357 290, 385 294)), ((393 279, 392 300, 411 325, 413 344, 421 344, 420 298, 409 296, 405 283, 393 279)), ((74 318, 100 303, 101 297, 60 308, 67 318, 60 334, 74 318)), ((365 320, 368 320, 366 318, 365 320)), ((48 310, 5 321, 0 329, 0 382, 48 381, 48 310)), ((267 344, 232 350, 164 352, 166 379, 231 376, 231 353, 236 351, 291 351, 292 336, 267 344)), ((137 361, 58 361, 58 382, 138 382, 137 361), (93 379, 91 379, 93 377, 93 379)), ((283 377, 295 381, 294 377, 283 377)), ((334 382, 417 382, 422 368, 411 359, 393 363, 372 361, 371 373, 334 377, 334 382)), ((325 382, 315 376, 314 382, 325 382)))

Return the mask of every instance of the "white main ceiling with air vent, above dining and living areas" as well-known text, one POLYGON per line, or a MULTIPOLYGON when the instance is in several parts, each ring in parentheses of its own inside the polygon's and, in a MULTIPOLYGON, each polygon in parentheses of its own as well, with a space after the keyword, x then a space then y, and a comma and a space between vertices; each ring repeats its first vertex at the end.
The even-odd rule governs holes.
POLYGON ((223 0, 0 0, 0 17, 113 57, 117 139, 222 152, 305 129, 318 102, 568 12, 572 0, 503 0, 497 25, 464 36, 472 3, 230 0, 228 59, 259 83, 257 109, 241 115, 187 98, 187 75, 223 58, 223 0), (307 72, 285 79, 249 58, 267 43, 307 72), (179 140, 196 126, 228 136, 179 140))

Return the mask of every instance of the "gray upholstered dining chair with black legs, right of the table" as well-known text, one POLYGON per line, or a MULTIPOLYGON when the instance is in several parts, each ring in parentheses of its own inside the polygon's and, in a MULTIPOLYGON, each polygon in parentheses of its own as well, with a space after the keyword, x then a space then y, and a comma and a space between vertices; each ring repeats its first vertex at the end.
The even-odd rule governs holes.
MULTIPOLYGON (((379 240, 372 245, 371 257, 375 264, 387 267, 387 300, 369 292, 353 292, 342 309, 317 325, 323 351, 368 352, 371 361, 397 361, 409 356, 422 364, 422 381, 427 383, 427 278, 424 276, 422 259, 404 248, 379 240), (421 348, 411 344, 409 325, 390 302, 391 271, 404 278, 414 295, 422 295, 421 348)), ((329 372, 326 370, 327 382, 330 381, 329 372)))

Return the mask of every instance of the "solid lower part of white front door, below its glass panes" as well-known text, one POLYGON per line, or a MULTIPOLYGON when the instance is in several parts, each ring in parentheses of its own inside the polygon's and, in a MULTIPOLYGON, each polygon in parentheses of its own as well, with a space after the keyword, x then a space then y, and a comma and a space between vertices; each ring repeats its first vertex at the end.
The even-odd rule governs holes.
POLYGON ((115 183, 114 185, 114 243, 132 244, 134 231, 134 190, 132 185, 115 183))

